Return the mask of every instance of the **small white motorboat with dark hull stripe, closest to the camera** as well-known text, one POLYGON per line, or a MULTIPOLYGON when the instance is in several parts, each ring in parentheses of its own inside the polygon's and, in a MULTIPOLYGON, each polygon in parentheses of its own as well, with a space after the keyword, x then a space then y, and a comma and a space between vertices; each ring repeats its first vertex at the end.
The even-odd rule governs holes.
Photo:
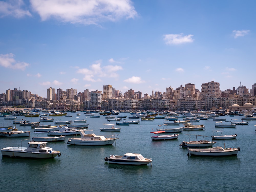
POLYGON ((110 164, 122 164, 122 165, 147 165, 152 162, 151 159, 144 158, 138 153, 126 153, 124 155, 110 155, 104 158, 105 161, 109 161, 110 164))

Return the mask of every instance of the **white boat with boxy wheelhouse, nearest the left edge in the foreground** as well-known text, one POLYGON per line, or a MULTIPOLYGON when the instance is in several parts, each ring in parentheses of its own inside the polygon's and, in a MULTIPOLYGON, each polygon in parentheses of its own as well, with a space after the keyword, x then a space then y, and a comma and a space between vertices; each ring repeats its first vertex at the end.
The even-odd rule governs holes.
POLYGON ((24 158, 54 158, 61 155, 59 151, 54 151, 46 147, 47 142, 30 141, 28 147, 5 147, 1 150, 2 156, 24 157, 24 158))

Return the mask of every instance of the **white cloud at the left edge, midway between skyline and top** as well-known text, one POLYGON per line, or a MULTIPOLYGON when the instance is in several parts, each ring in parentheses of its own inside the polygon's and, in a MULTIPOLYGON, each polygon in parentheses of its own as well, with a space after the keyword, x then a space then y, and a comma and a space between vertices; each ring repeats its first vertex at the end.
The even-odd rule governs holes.
POLYGON ((14 59, 14 54, 0 54, 0 66, 3 66, 5 68, 11 68, 11 69, 20 69, 24 71, 27 66, 29 66, 28 63, 16 61, 14 59))

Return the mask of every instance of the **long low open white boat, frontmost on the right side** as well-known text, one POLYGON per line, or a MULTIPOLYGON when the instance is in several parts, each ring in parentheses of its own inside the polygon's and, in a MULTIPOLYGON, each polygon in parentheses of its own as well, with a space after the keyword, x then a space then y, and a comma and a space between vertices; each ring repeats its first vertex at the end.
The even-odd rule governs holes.
POLYGON ((222 148, 222 147, 212 147, 205 149, 190 149, 188 147, 188 156, 189 155, 199 155, 199 156, 231 156, 237 155, 240 148, 222 148))

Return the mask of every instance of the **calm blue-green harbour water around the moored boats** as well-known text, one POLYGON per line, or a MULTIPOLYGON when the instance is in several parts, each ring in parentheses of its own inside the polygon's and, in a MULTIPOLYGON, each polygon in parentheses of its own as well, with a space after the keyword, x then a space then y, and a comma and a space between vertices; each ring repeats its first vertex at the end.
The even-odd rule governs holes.
MULTIPOLYGON (((75 120, 76 113, 63 120, 75 120)), ((123 113, 119 115, 127 115, 123 113)), ((223 117, 223 116, 221 116, 223 117)), ((227 120, 242 116, 229 117, 227 120)), ((24 116, 17 116, 23 118, 24 116)), ((60 118, 60 117, 55 117, 60 118)), ((152 122, 141 121, 140 124, 122 126, 120 132, 103 132, 99 129, 107 122, 105 116, 90 118, 81 113, 80 119, 87 119, 91 133, 96 135, 119 134, 118 140, 111 146, 73 146, 65 142, 48 142, 47 146, 61 152, 54 159, 22 159, 0 157, 2 176, 1 191, 256 191, 255 161, 255 124, 237 125, 236 128, 224 128, 224 134, 237 134, 237 139, 217 141, 215 146, 240 147, 237 156, 232 157, 195 157, 187 156, 187 149, 179 144, 188 141, 188 134, 206 135, 211 140, 215 121, 201 120, 205 130, 184 131, 179 138, 169 141, 152 141, 152 131, 163 119, 152 122), (152 158, 152 166, 111 165, 104 161, 109 155, 123 155, 127 152, 140 153, 145 158, 152 158)), ((26 118, 30 122, 39 121, 39 117, 26 118)), ((23 120, 24 121, 24 120, 23 120)), ((12 124, 12 120, 0 118, 3 125, 12 124)), ((40 124, 54 125, 54 122, 40 124)), ((229 124, 230 122, 224 122, 229 124)), ((77 123, 82 124, 82 123, 77 123)), ((196 124, 196 123, 194 123, 196 124)), ((31 131, 27 126, 17 125, 19 130, 31 131)), ((116 126, 117 127, 117 126, 116 126)), ((168 128, 179 127, 168 125, 168 128)), ((47 133, 38 133, 46 136, 47 133)), ((173 133, 170 133, 173 134, 173 133)), ((27 146, 22 138, 0 138, 0 148, 9 146, 27 146)), ((190 136, 190 140, 195 137, 190 136)))

